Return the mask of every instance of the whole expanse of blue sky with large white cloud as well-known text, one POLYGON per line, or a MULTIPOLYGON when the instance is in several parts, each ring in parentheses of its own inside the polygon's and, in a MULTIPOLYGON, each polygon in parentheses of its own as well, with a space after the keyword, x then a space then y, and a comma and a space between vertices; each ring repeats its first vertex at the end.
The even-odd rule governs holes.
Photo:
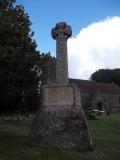
POLYGON ((17 0, 33 23, 37 49, 55 56, 51 29, 66 21, 69 76, 89 79, 100 68, 120 68, 120 0, 17 0))

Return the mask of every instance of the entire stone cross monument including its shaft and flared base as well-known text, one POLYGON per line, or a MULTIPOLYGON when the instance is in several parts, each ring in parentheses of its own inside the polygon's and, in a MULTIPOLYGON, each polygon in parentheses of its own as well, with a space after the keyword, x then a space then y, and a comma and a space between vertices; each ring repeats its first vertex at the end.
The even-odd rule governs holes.
POLYGON ((56 67, 51 66, 55 78, 49 75, 48 84, 42 87, 42 105, 32 124, 30 143, 91 149, 92 141, 81 107, 80 90, 68 82, 67 39, 72 34, 71 27, 60 22, 51 33, 56 40, 56 61, 52 64, 56 67))

